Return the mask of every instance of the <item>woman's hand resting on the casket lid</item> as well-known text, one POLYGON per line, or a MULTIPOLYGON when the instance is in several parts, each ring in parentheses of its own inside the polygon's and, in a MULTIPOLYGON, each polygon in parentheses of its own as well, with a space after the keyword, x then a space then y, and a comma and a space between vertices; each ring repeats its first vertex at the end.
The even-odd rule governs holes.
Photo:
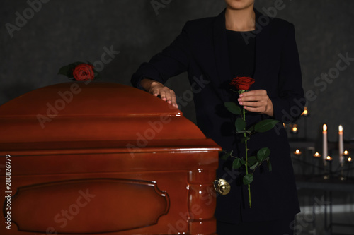
POLYGON ((142 79, 141 83, 142 87, 147 90, 150 94, 160 97, 161 100, 172 104, 173 107, 178 109, 178 104, 176 103, 176 94, 170 88, 164 86, 164 84, 156 82, 156 80, 151 80, 148 78, 142 79))

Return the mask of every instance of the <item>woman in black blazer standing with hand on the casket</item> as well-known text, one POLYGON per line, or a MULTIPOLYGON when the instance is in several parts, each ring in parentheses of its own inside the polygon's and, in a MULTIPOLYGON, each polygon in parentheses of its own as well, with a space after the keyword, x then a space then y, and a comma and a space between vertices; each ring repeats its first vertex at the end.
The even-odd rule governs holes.
MULTIPOLYGON (((188 78, 205 83, 194 89, 199 128, 224 150, 244 156, 244 145, 234 135, 234 118, 224 102, 237 101, 247 111, 246 125, 263 119, 295 121, 302 113, 304 97, 295 30, 291 23, 268 18, 256 11, 254 0, 226 0, 217 17, 185 24, 173 43, 144 63, 132 76, 132 84, 161 97, 175 107, 176 95, 163 84, 188 71, 188 78), (229 82, 236 76, 256 80, 249 92, 236 96, 229 82)), ((195 86, 195 84, 193 84, 195 86)), ((217 198, 217 233, 292 234, 299 212, 290 147, 282 125, 252 135, 249 152, 270 148, 273 171, 260 167, 251 183, 252 208, 243 172, 231 168, 232 160, 219 160, 218 178, 232 185, 228 195, 217 198)))

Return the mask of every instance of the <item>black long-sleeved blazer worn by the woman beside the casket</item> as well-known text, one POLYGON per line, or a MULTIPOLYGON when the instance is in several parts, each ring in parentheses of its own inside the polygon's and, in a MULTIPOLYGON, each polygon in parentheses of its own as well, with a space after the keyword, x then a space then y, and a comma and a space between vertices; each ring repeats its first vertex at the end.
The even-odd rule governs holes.
MULTIPOLYGON (((245 34, 256 37, 256 61, 251 90, 267 90, 273 102, 274 116, 247 114, 247 125, 262 119, 277 119, 281 123, 295 121, 304 107, 302 76, 291 23, 268 18, 256 11, 256 31, 245 34)), ((224 108, 225 101, 237 97, 227 87, 230 73, 225 11, 217 17, 192 20, 169 47, 142 64, 132 76, 132 85, 141 88, 142 78, 161 83, 185 71, 193 88, 199 128, 207 138, 215 140, 224 150, 234 150, 244 157, 244 145, 234 135, 234 116, 224 108)), ((251 183, 252 208, 242 172, 231 169, 232 159, 219 160, 217 176, 232 185, 229 195, 217 197, 216 217, 223 222, 266 221, 299 212, 297 191, 290 159, 290 147, 282 124, 266 133, 251 136, 249 152, 270 148, 273 171, 266 167, 256 170, 251 183)))

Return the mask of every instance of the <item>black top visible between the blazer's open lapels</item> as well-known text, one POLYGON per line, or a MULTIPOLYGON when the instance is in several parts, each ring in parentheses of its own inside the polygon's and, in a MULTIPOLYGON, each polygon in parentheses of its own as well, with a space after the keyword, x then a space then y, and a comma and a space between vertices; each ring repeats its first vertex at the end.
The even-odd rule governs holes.
POLYGON ((253 78, 256 38, 247 37, 251 32, 238 32, 226 30, 227 47, 229 51, 229 63, 232 78, 253 78))

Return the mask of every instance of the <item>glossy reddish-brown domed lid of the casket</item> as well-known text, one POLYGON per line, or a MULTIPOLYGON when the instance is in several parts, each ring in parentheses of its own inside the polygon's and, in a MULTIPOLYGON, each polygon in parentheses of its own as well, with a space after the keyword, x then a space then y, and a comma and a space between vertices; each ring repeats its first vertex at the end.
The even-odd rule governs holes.
POLYGON ((184 143, 218 149, 179 109, 116 83, 59 83, 33 90, 3 104, 0 121, 5 133, 0 143, 11 149, 19 143, 35 147, 34 143, 73 141, 99 141, 107 147, 131 143, 139 150, 166 141, 175 147, 184 143))

